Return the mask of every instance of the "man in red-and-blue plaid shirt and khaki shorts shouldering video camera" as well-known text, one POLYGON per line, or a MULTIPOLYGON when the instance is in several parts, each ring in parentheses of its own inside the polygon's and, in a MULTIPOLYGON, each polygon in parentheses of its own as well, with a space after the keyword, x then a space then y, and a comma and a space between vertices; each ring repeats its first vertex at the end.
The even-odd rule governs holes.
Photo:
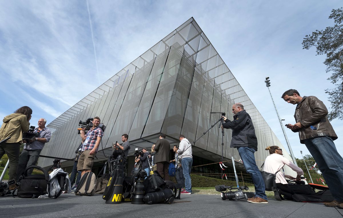
POLYGON ((94 117, 93 127, 88 130, 87 134, 85 134, 85 128, 81 130, 80 135, 83 144, 81 145, 81 154, 78 161, 78 171, 81 171, 81 177, 86 172, 92 171, 94 157, 98 151, 101 138, 104 135, 104 131, 98 127, 99 124, 100 118, 94 117))

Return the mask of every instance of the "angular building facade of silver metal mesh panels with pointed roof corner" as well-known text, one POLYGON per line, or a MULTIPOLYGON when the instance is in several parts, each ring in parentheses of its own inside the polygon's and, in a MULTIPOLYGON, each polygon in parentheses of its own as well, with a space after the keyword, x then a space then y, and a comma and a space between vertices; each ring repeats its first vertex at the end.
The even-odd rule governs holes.
MULTIPOLYGON (((98 161, 111 154, 115 141, 127 133, 134 148, 150 148, 160 132, 167 135, 171 146, 178 144, 184 134, 192 142, 198 139, 226 112, 240 102, 250 114, 259 142, 255 153, 261 166, 266 146, 283 145, 253 105, 229 68, 213 48, 193 18, 175 29, 117 74, 64 112, 47 127, 51 140, 41 155, 72 159, 81 137, 77 134, 79 120, 98 116, 106 125, 98 161)), ((231 130, 225 130, 225 159, 240 159, 236 149, 230 148, 231 130)), ((222 136, 218 125, 201 137, 193 148, 193 155, 220 161, 222 136)), ((172 148, 172 147, 171 147, 172 148)), ((284 152, 284 156, 291 157, 284 152)), ((50 158, 39 158, 40 166, 50 166, 50 158)), ((65 162, 63 166, 72 165, 65 162)), ((286 169, 286 172, 288 170, 286 169)), ((292 175, 291 172, 287 172, 292 175)))

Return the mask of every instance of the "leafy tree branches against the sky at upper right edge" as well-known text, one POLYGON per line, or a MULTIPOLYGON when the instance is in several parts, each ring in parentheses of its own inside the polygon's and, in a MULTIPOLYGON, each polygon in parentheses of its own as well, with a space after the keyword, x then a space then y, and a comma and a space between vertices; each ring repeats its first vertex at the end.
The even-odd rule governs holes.
POLYGON ((326 54, 323 63, 327 66, 326 72, 332 73, 328 80, 335 85, 334 89, 325 90, 332 108, 328 118, 343 120, 343 8, 331 12, 329 19, 333 19, 335 25, 306 35, 302 44, 303 49, 315 46, 317 55, 326 54))

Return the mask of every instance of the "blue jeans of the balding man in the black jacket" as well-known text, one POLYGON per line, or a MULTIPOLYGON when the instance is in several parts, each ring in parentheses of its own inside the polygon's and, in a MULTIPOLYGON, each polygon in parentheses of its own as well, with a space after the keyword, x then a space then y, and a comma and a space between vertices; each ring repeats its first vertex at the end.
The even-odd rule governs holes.
POLYGON ((264 181, 255 161, 255 149, 248 147, 238 147, 237 150, 240 158, 242 158, 245 169, 247 170, 247 172, 249 172, 252 178, 252 182, 255 185, 255 196, 267 200, 267 195, 265 195, 264 181))

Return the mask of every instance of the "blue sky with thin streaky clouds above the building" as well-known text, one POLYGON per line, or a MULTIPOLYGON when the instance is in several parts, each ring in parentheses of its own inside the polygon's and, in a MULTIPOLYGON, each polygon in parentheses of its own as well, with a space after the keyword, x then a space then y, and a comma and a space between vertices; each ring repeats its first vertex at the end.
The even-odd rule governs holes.
MULTIPOLYGON (((31 125, 41 117, 50 123, 193 17, 286 148, 264 79, 284 124, 295 123, 295 105, 280 98, 288 89, 318 97, 330 111, 325 56, 301 42, 334 25, 328 17, 340 7, 340 0, 0 0, 0 118, 27 105, 31 125)), ((331 124, 343 156, 342 120, 331 124)), ((285 130, 294 156, 309 154, 285 130)))

